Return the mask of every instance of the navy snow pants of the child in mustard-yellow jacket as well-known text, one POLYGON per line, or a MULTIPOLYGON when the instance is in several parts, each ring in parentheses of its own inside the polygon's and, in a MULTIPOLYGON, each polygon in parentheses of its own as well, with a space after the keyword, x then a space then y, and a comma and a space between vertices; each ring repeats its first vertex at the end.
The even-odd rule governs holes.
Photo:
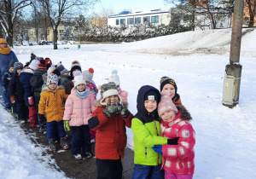
MULTIPOLYGON (((56 137, 56 131, 58 132, 59 137, 66 136, 66 131, 64 130, 63 126, 63 120, 59 122, 51 121, 49 123, 46 123, 46 134, 48 140, 56 137)), ((57 139, 55 138, 55 140, 57 139)))

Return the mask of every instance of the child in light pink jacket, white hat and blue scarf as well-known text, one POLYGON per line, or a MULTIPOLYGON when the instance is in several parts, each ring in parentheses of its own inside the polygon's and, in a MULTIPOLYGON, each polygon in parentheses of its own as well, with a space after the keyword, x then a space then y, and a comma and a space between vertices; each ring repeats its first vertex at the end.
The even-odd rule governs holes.
POLYGON ((91 158, 90 153, 90 128, 88 120, 96 109, 94 95, 86 88, 82 74, 73 79, 73 90, 68 95, 64 112, 64 128, 72 134, 72 154, 75 159, 82 159, 81 148, 85 158, 91 158))

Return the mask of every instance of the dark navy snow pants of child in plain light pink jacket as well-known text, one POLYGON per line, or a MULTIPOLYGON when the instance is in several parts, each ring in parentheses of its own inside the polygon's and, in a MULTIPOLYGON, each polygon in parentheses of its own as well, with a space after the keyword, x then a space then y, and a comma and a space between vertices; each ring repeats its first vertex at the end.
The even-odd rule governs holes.
POLYGON ((90 128, 89 125, 71 126, 72 154, 90 153, 90 128))

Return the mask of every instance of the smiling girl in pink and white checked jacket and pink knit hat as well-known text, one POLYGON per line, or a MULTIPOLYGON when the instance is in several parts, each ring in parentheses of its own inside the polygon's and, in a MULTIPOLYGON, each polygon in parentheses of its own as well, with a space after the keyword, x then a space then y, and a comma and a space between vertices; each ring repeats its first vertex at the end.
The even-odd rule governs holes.
POLYGON ((154 146, 156 153, 163 155, 162 168, 166 179, 192 179, 195 170, 195 130, 185 107, 175 106, 168 90, 161 92, 158 107, 161 118, 161 136, 177 139, 172 145, 154 146))

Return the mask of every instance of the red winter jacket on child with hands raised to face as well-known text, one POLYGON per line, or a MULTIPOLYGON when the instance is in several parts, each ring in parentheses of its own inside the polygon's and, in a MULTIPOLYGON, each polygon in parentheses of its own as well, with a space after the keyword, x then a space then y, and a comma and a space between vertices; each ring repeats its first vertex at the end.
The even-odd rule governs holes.
POLYGON ((95 153, 97 159, 119 159, 125 156, 127 143, 126 128, 131 128, 132 113, 128 118, 114 114, 108 118, 103 112, 104 107, 97 107, 92 113, 88 124, 96 132, 95 153))

